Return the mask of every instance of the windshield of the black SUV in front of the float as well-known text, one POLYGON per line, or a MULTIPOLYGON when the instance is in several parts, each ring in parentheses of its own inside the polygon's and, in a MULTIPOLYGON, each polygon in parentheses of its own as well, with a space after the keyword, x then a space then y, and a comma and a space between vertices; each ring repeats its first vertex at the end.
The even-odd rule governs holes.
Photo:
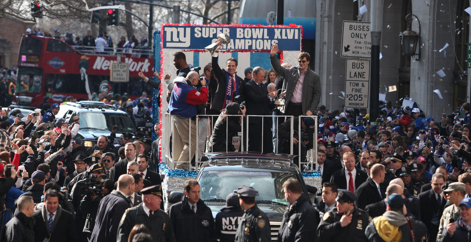
POLYGON ((238 187, 246 185, 259 193, 256 201, 272 201, 287 205, 282 185, 295 174, 260 171, 203 171, 199 178, 201 199, 222 199, 238 187))

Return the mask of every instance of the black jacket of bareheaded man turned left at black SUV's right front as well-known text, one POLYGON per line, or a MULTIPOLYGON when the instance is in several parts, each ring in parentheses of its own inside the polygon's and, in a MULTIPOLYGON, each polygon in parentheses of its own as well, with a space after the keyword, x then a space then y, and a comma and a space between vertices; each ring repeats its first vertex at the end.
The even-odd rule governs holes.
POLYGON ((318 241, 314 228, 319 224, 319 214, 304 195, 286 208, 278 231, 278 242, 318 241))

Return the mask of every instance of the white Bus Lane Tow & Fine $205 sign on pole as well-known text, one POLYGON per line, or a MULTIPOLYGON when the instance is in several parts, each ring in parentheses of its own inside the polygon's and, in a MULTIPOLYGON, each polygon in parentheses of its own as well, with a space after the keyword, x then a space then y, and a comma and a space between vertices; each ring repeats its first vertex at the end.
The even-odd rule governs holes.
POLYGON ((368 108, 370 61, 347 59, 345 107, 368 108))

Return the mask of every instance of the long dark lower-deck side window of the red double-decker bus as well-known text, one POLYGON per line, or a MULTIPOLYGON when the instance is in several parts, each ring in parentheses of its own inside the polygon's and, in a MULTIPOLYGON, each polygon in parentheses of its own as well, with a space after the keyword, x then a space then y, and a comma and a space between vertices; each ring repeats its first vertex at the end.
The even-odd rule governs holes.
POLYGON ((47 92, 85 93, 85 81, 80 74, 50 74, 45 75, 47 92))

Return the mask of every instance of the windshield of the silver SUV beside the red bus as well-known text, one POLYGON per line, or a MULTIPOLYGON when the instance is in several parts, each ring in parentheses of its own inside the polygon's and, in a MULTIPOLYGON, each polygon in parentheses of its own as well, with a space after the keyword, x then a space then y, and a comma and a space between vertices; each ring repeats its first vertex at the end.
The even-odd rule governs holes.
POLYGON ((122 113, 79 112, 80 129, 108 130, 113 125, 118 127, 117 133, 134 133, 131 119, 122 113))

